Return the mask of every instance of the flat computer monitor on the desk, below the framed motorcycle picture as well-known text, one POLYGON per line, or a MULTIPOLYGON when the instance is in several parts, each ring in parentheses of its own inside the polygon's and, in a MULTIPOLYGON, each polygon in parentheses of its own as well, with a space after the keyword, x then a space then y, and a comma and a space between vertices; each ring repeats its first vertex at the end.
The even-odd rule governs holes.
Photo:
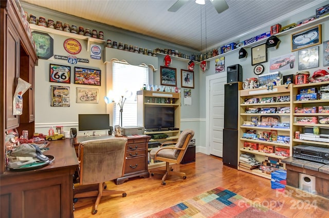
POLYGON ((79 131, 96 131, 109 130, 109 114, 79 114, 79 131))

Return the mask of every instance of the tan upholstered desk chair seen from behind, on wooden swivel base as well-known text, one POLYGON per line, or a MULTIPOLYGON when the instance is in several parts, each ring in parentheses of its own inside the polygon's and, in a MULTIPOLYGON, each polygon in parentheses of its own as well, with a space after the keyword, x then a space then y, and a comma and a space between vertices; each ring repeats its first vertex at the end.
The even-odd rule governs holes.
POLYGON ((75 187, 75 202, 79 197, 97 196, 93 214, 102 196, 122 194, 123 190, 106 190, 106 181, 118 179, 123 175, 126 138, 106 138, 89 140, 79 144, 79 180, 80 185, 75 187), (98 190, 88 190, 84 185, 98 184, 98 190), (85 191, 86 190, 86 191, 85 191), (85 191, 85 192, 81 192, 85 191))

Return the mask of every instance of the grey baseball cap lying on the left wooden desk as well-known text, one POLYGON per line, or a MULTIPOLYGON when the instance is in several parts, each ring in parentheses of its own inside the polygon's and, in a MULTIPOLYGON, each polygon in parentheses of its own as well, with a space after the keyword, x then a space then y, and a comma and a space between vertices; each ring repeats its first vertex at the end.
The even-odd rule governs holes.
POLYGON ((22 144, 19 147, 15 148, 11 153, 11 156, 28 156, 35 157, 38 161, 46 162, 49 158, 42 154, 40 148, 32 144, 22 144))

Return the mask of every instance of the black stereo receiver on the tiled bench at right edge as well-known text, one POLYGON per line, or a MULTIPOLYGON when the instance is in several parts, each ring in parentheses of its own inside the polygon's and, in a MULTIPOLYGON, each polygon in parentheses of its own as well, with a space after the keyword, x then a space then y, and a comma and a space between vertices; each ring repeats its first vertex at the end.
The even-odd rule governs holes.
POLYGON ((293 157, 329 164, 329 148, 297 145, 293 147, 293 157))

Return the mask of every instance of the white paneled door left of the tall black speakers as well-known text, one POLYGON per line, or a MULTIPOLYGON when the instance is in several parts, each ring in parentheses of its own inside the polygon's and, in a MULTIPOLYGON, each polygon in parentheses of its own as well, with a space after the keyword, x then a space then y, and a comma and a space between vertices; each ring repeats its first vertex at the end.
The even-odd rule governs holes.
POLYGON ((209 153, 223 157, 223 129, 224 129, 224 84, 226 72, 215 74, 209 78, 209 153))

